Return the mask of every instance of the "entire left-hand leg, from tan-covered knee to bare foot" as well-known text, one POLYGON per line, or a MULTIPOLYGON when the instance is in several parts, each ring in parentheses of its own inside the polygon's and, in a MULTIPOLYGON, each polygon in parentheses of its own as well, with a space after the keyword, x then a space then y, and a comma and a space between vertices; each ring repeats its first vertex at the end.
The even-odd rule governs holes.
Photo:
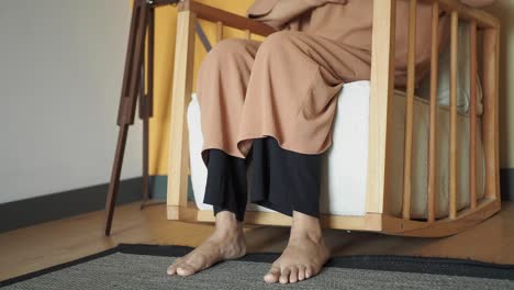
POLYGON ((205 201, 215 205, 215 228, 200 246, 168 267, 169 275, 189 276, 220 260, 246 254, 243 235, 245 156, 237 150, 235 138, 259 44, 249 40, 224 40, 200 66, 197 96, 202 121, 202 159, 208 167, 205 201))

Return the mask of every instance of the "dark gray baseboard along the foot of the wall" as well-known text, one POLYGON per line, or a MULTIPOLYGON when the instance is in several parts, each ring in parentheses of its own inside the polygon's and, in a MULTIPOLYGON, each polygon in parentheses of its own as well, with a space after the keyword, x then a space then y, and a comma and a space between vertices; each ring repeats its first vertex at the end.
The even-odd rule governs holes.
MULTIPOLYGON (((150 194, 154 200, 166 200, 167 176, 150 177, 150 194)), ((188 182, 188 200, 194 200, 191 177, 188 182)), ((500 170, 502 200, 514 200, 514 168, 500 170)), ((0 204, 0 233, 38 223, 103 210, 109 183, 65 192, 53 193, 0 204)), ((122 180, 116 204, 141 200, 142 178, 122 180)))

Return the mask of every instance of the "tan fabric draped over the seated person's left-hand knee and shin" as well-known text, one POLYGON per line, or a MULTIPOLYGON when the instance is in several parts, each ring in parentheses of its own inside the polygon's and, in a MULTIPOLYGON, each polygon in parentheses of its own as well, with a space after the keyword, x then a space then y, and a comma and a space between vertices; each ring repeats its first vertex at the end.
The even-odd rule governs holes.
POLYGON ((246 102, 246 88, 261 42, 227 38, 217 43, 198 71, 197 97, 202 129, 201 157, 206 166, 208 149, 246 158, 237 148, 238 124, 246 102))

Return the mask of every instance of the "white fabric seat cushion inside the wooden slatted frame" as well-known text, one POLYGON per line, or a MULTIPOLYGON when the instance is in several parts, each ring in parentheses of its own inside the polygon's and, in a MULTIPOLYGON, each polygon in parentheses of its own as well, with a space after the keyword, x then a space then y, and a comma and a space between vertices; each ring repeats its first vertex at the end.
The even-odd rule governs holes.
MULTIPOLYGON (((323 182, 321 191, 321 212, 336 215, 366 214, 366 178, 369 133, 369 81, 346 83, 338 96, 337 112, 333 127, 333 145, 325 152, 323 160, 323 182)), ((389 182, 391 213, 400 215, 403 187, 403 145, 404 145, 404 93, 396 91, 393 98, 393 148, 399 154, 391 159, 391 182, 389 182)), ((413 136, 413 192, 411 215, 414 219, 426 217, 427 197, 427 153, 429 105, 427 100, 415 98, 414 136, 413 136)), ((469 118, 458 113, 458 199, 457 208, 469 204, 469 118)), ((479 121, 480 122, 480 121, 479 121)), ((191 180, 195 203, 200 210, 212 210, 203 204, 206 182, 206 168, 201 159, 203 137, 200 126, 200 107, 195 94, 188 107, 188 126, 190 145, 191 180)), ((478 125, 480 127, 480 123, 478 125)), ((446 216, 448 212, 448 174, 449 174, 449 110, 438 109, 438 190, 436 196, 436 216, 446 216)), ((480 130, 478 132, 478 197, 484 192, 484 158, 480 130)), ((249 171, 248 171, 249 174, 249 171)), ((249 175, 248 175, 249 177, 249 175)), ((268 211, 260 205, 249 203, 248 211, 268 211)))

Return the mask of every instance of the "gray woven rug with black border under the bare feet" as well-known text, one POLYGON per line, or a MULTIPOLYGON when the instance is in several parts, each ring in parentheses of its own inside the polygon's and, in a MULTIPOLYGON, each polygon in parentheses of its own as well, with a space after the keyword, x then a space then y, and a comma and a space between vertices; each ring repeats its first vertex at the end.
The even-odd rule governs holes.
POLYGON ((332 258, 323 271, 293 285, 262 276, 278 254, 248 254, 191 277, 166 275, 192 248, 122 244, 75 261, 0 282, 2 289, 514 289, 514 265, 406 256, 332 258))

